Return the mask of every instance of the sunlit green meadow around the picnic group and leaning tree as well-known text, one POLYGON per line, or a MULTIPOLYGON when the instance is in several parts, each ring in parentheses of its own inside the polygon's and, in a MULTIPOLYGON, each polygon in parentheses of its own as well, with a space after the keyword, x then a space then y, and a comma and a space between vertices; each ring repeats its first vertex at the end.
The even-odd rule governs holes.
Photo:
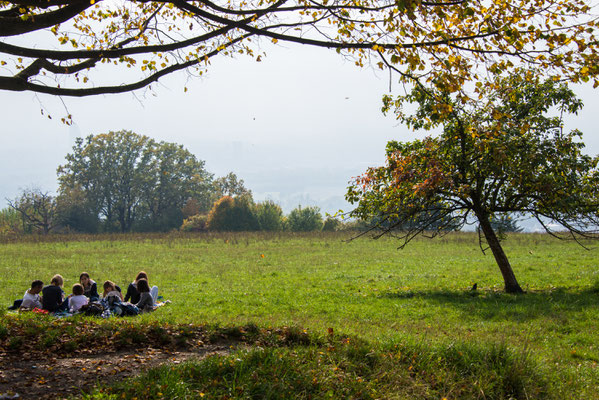
MULTIPOLYGON (((556 398, 568 393, 571 398, 599 398, 599 250, 594 244, 587 251, 542 234, 509 236, 505 250, 527 291, 517 296, 502 293, 499 269, 490 252, 481 253, 476 234, 418 239, 403 250, 393 239, 347 241, 349 237, 223 233, 55 236, 9 242, 0 244, 0 303, 12 304, 32 280, 47 283, 55 273, 63 275, 65 291, 70 293, 82 271, 89 272, 98 286, 110 279, 125 290, 136 273, 145 270, 150 284, 158 285, 172 304, 132 320, 136 323, 294 326, 314 337, 326 337, 332 328, 382 353, 406 344, 411 349, 437 349, 435 354, 443 354, 439 360, 449 357, 451 349, 463 349, 460 355, 467 349, 485 349, 491 358, 505 350, 510 357, 530 361, 534 373, 541 376, 534 379, 547 381, 544 390, 556 398), (478 290, 472 293, 474 283, 478 290)), ((306 370, 321 365, 314 364, 319 356, 313 349, 260 354, 265 357, 260 365, 266 359, 285 357, 306 357, 306 370)), ((234 356, 250 366, 255 358, 251 351, 234 356)), ((201 366, 203 371, 222 375, 211 362, 201 366)), ((329 362, 334 368, 340 363, 329 362)), ((471 360, 469 365, 475 364, 471 360)), ((194 368, 200 367, 186 366, 173 379, 185 381, 183 376, 193 376, 194 368)), ((237 377, 243 375, 243 368, 251 369, 240 368, 232 372, 237 377)), ((140 379, 136 384, 147 387, 143 379, 153 378, 140 379)), ((302 379, 316 378, 300 376, 297 381, 302 379)), ((342 397, 367 398, 363 393, 372 382, 356 384, 355 393, 342 397)), ((473 378, 471 384, 477 382, 473 378)), ((341 393, 335 387, 325 389, 325 393, 341 393)), ((391 386, 388 393, 399 393, 396 389, 391 386)), ((200 389, 189 390, 199 393, 200 389)), ((219 398, 220 392, 214 393, 219 398)), ((437 398, 451 391, 414 393, 414 398, 437 398)), ((463 393, 456 396, 504 398, 463 393)), ((542 390, 539 393, 535 397, 524 392, 521 398, 550 397, 542 390)), ((326 396, 308 393, 298 398, 326 396)))

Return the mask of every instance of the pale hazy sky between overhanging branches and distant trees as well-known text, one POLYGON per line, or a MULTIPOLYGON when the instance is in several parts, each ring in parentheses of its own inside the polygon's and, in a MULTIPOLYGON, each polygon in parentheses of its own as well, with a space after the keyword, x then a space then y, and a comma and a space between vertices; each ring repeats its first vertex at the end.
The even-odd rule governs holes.
MULTIPOLYGON (((333 51, 265 50, 260 63, 220 58, 202 78, 167 77, 153 94, 64 98, 71 127, 60 123, 67 112, 58 98, 0 92, 0 208, 25 187, 55 191, 56 168, 75 137, 128 129, 184 145, 210 172, 235 172, 257 200, 272 198, 286 212, 299 203, 348 210, 348 180, 380 165, 388 140, 416 137, 380 112, 388 74, 359 69, 333 51)), ((392 89, 401 91, 396 82, 392 89)), ((581 129, 588 152, 596 154, 597 92, 577 91, 586 107, 566 127, 581 129)))

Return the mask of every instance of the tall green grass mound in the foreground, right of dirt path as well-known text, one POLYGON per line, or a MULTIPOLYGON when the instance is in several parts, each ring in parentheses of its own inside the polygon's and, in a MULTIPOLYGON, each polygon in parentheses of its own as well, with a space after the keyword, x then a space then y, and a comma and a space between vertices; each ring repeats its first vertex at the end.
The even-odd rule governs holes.
POLYGON ((88 399, 551 399, 551 384, 503 346, 253 348, 165 365, 88 399))

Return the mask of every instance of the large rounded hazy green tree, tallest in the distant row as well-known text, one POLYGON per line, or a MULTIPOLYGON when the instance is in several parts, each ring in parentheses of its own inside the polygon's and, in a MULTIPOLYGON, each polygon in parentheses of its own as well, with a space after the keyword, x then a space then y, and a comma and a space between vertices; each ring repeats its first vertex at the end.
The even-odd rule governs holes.
POLYGON ((212 197, 203 161, 180 145, 130 131, 78 138, 66 160, 58 169, 61 196, 81 194, 83 208, 102 216, 107 230, 128 232, 134 223, 176 228, 190 198, 212 197))

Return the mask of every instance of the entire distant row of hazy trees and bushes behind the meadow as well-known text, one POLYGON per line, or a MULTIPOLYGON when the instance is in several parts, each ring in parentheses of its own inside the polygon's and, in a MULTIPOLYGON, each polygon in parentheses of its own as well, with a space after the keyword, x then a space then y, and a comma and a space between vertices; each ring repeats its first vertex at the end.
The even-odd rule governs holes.
POLYGON ((77 138, 58 167, 56 196, 25 189, 0 210, 0 234, 339 230, 318 207, 289 215, 254 202, 234 173, 214 178, 183 146, 130 131, 77 138))

